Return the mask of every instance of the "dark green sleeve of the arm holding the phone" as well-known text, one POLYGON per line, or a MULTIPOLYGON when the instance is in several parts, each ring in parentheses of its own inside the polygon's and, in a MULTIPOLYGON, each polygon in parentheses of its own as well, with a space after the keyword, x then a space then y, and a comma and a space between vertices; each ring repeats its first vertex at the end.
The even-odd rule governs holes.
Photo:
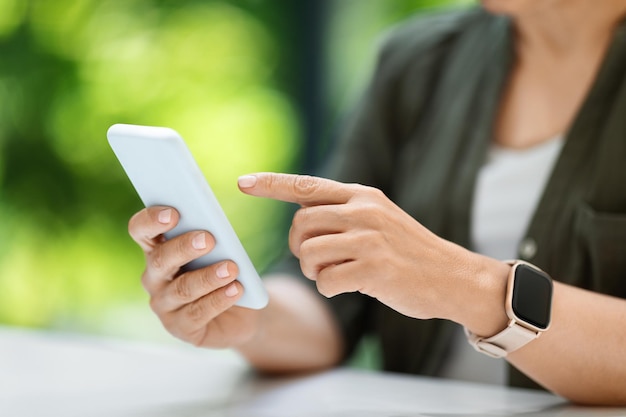
MULTIPOLYGON (((420 121, 432 94, 433 76, 465 15, 418 16, 387 32, 369 85, 341 129, 321 176, 369 185, 392 195, 398 154, 420 121)), ((299 276, 315 289, 315 283, 300 273, 297 259, 288 257, 280 265, 280 270, 299 276)), ((347 359, 372 329, 377 301, 347 293, 325 302, 343 335, 347 359)))

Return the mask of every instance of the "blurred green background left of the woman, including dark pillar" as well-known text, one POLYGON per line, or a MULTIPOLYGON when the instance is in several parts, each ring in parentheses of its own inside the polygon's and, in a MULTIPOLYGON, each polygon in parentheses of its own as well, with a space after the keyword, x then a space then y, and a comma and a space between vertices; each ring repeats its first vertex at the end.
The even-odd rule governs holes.
POLYGON ((382 31, 468 2, 0 0, 0 324, 167 338, 107 128, 178 130, 262 271, 287 208, 237 177, 314 170, 382 31))

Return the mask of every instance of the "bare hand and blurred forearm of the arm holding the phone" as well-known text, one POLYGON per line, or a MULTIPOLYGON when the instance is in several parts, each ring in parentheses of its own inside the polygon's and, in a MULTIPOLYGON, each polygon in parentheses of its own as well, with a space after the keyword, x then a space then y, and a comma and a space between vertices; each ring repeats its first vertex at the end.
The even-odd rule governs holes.
POLYGON ((341 338, 330 312, 303 284, 268 277, 268 306, 251 310, 234 305, 243 290, 235 263, 179 274, 184 264, 210 252, 215 241, 204 231, 165 241, 163 233, 178 218, 176 210, 155 206, 135 214, 128 225, 145 254, 141 282, 150 307, 172 335, 196 346, 237 348, 266 372, 312 371, 339 361, 341 338))

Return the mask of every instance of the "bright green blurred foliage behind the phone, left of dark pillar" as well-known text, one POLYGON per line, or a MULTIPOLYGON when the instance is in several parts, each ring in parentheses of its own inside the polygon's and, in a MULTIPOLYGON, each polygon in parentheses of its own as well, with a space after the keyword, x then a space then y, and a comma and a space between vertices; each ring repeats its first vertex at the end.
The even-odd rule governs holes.
POLYGON ((117 122, 177 129, 255 263, 276 256, 276 205, 236 187, 298 147, 266 4, 0 2, 0 321, 88 326, 145 299, 126 233, 141 205, 105 138, 117 122))

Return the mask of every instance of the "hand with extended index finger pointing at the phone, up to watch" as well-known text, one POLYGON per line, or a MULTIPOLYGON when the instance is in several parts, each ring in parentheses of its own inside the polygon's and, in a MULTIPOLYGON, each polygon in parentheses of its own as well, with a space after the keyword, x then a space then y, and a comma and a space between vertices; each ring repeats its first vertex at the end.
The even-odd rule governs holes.
POLYGON ((239 187, 247 194, 302 206, 293 219, 289 246, 323 295, 358 291, 410 317, 471 325, 468 313, 474 307, 468 297, 480 296, 484 307, 489 297, 483 291, 493 290, 501 292, 491 297, 490 314, 497 323, 489 330, 479 327, 505 327, 506 265, 439 238, 381 191, 272 173, 241 177, 239 187), (494 276, 501 285, 490 288, 481 282, 494 276))

